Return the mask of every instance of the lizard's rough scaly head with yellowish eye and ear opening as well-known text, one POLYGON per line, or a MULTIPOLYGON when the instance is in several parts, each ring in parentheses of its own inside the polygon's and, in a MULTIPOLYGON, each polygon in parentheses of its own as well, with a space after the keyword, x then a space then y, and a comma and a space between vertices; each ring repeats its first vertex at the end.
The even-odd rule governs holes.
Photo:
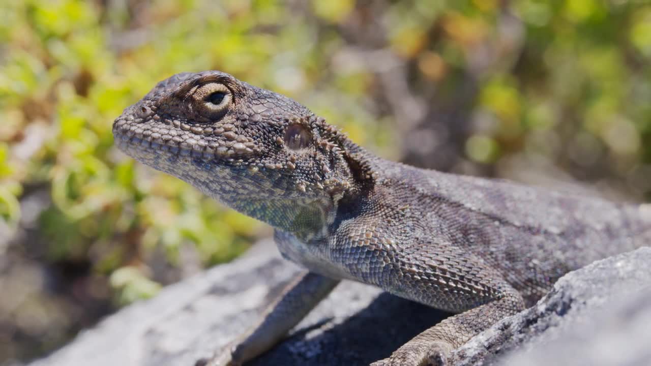
POLYGON ((269 205, 336 201, 355 186, 359 147, 294 100, 223 72, 161 81, 113 134, 132 158, 264 221, 269 205))

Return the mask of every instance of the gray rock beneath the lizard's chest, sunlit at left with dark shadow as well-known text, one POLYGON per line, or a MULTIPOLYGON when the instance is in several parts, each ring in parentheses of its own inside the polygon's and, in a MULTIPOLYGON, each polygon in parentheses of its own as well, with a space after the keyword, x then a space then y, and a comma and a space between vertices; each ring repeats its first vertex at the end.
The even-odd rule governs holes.
MULTIPOLYGON (((273 243, 126 307, 32 366, 193 366, 252 324, 299 268, 273 243)), ((368 365, 447 313, 344 281, 253 365, 368 365)))

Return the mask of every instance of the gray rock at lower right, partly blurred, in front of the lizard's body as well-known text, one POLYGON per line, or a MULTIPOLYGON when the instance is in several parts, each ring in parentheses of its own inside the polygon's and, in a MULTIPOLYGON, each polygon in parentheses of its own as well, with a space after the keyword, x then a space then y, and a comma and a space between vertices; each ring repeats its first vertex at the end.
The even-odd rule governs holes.
POLYGON ((650 264, 644 247, 564 275, 534 307, 460 348, 458 364, 651 365, 650 264))

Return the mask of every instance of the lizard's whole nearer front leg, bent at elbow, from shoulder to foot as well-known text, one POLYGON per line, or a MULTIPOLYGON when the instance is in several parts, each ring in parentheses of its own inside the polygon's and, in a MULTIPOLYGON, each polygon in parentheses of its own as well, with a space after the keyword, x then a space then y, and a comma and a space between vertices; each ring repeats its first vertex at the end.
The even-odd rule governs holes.
POLYGON ((356 218, 340 226, 329 246, 331 257, 351 277, 458 313, 373 366, 446 365, 452 350, 525 307, 521 294, 489 262, 442 234, 429 235, 417 224, 409 227, 413 222, 356 218), (405 223, 396 227, 400 222, 405 223))

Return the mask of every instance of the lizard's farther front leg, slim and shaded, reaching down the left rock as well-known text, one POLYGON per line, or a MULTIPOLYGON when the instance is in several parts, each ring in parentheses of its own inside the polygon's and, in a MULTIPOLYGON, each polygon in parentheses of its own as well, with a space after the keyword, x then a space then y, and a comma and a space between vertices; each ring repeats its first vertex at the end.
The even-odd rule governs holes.
POLYGON ((226 350, 208 361, 197 361, 197 365, 236 366, 266 352, 281 341, 337 283, 339 280, 312 272, 297 275, 252 328, 230 343, 226 350))

